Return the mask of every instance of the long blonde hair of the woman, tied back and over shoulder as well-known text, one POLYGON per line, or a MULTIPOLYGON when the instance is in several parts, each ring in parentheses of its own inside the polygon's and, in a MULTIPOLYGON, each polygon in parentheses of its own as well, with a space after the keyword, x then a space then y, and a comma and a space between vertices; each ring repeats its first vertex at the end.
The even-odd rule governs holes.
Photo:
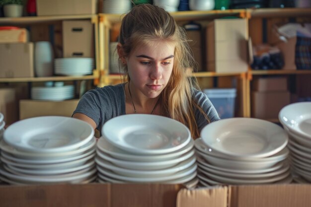
MULTIPOLYGON (((175 44, 172 74, 160 95, 162 115, 183 123, 189 128, 192 138, 198 138, 200 135, 195 120, 195 108, 204 114, 207 123, 210 121, 192 95, 193 88, 199 89, 199 86, 197 80, 187 74, 187 71, 193 69, 196 63, 184 29, 177 25, 168 12, 156 5, 134 6, 124 16, 119 36, 124 56, 129 56, 136 46, 158 39, 175 44)), ((122 65, 121 62, 120 64, 122 65)), ((123 67, 128 74, 127 66, 123 65, 123 67)), ((127 75, 128 81, 130 78, 127 75)))

